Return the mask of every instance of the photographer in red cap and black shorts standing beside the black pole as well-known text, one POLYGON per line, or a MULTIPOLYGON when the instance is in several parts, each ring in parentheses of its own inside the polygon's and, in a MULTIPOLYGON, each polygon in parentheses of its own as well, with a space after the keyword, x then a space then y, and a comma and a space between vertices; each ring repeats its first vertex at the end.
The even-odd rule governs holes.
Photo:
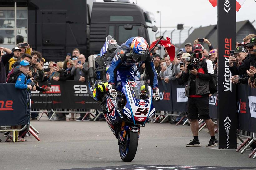
POLYGON ((218 140, 215 138, 214 124, 209 116, 209 82, 213 80, 213 64, 211 60, 202 57, 204 56, 204 47, 201 44, 194 45, 193 55, 194 62, 186 62, 185 71, 181 75, 183 82, 188 82, 185 87, 185 95, 188 97, 187 116, 190 119, 190 127, 194 136, 194 139, 186 146, 201 146, 198 139, 199 118, 204 119, 211 135, 206 147, 214 147, 218 145, 218 140))

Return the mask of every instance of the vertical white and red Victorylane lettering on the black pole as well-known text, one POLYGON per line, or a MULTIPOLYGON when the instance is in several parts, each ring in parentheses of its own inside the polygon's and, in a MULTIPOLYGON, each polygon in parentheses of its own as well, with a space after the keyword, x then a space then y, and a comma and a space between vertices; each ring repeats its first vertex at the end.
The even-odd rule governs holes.
POLYGON ((232 83, 231 83, 231 72, 229 70, 229 56, 230 56, 230 50, 232 44, 232 38, 225 38, 225 54, 223 57, 225 57, 225 81, 223 82, 224 90, 223 91, 231 91, 232 92, 232 83))

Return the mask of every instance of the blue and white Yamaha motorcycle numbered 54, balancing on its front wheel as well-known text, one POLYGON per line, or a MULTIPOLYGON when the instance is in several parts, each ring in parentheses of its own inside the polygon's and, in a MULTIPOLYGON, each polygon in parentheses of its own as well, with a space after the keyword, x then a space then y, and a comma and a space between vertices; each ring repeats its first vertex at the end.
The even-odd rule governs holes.
MULTIPOLYGON (((88 85, 91 97, 95 93, 96 80, 106 82, 106 59, 118 47, 116 40, 109 35, 101 49, 101 56, 89 56, 88 85)), ((108 126, 118 139, 121 159, 130 162, 137 151, 140 127, 145 126, 155 115, 152 104, 153 90, 147 82, 141 81, 136 76, 133 69, 119 69, 116 91, 118 93, 116 100, 112 100, 107 92, 101 92, 100 100, 97 102, 102 108, 108 126)))

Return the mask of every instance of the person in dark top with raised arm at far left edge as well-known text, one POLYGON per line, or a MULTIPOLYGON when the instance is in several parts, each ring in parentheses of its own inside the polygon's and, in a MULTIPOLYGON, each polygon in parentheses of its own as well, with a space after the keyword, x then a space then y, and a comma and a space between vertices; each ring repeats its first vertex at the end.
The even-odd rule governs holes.
POLYGON ((6 82, 6 72, 5 72, 5 65, 8 63, 8 61, 13 57, 13 51, 0 47, 1 56, 0 56, 0 83, 6 82), (5 52, 6 54, 2 54, 2 52, 5 52))

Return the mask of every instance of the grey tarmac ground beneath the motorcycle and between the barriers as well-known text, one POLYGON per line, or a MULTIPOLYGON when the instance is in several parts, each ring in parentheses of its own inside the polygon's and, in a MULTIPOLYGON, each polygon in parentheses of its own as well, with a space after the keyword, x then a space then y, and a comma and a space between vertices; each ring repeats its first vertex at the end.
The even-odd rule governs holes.
POLYGON ((26 142, 8 143, 0 133, 0 169, 256 169, 256 159, 248 157, 251 150, 240 154, 235 149, 206 148, 207 130, 199 133, 201 147, 185 147, 192 139, 187 125, 146 124, 134 160, 122 162, 106 122, 42 117, 31 124, 39 131, 40 142, 26 137, 26 142))

